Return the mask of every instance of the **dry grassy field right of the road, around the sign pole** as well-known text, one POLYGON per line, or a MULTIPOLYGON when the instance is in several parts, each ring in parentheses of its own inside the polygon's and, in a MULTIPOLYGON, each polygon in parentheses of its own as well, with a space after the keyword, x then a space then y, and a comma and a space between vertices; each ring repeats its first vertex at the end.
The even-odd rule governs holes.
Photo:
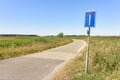
POLYGON ((120 80, 120 36, 91 37, 88 74, 86 49, 80 54, 60 69, 53 80, 120 80))

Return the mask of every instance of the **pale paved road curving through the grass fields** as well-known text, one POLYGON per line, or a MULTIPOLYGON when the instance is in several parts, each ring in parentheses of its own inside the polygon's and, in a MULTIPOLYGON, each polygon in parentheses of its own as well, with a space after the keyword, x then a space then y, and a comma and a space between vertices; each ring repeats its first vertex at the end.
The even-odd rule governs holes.
POLYGON ((49 80, 50 75, 63 63, 74 58, 85 46, 84 41, 40 53, 0 61, 0 80, 49 80))

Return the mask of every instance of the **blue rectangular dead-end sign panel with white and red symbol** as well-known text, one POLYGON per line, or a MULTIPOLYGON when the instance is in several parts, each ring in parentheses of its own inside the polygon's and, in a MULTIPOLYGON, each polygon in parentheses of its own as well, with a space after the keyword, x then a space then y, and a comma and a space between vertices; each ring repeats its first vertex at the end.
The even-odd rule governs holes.
POLYGON ((85 27, 95 27, 95 12, 85 13, 85 27))

